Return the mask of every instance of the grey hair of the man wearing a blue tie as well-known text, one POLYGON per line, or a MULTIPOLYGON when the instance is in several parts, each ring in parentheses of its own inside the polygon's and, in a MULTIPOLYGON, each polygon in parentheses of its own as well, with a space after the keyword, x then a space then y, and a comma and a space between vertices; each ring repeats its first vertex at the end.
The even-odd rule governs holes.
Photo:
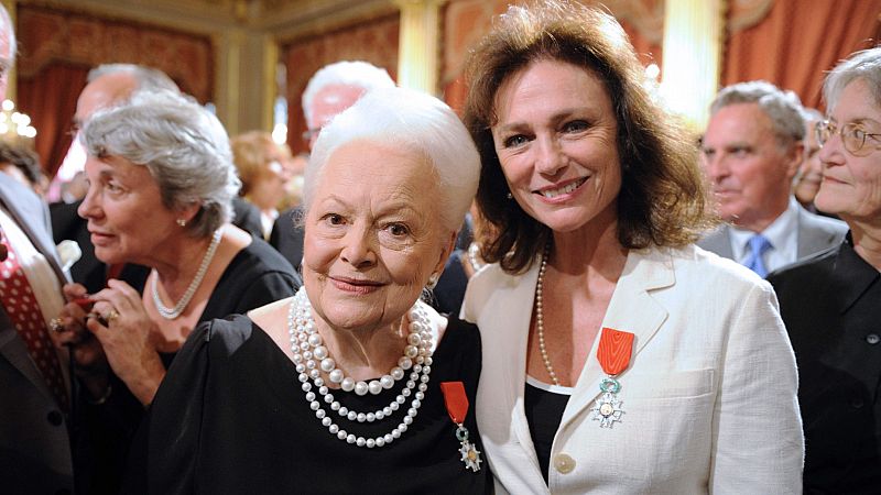
POLYGON ((777 142, 788 146, 805 138, 805 119, 802 117, 802 100, 790 90, 782 90, 765 80, 751 80, 728 86, 716 95, 710 113, 729 105, 757 103, 776 134, 777 142))

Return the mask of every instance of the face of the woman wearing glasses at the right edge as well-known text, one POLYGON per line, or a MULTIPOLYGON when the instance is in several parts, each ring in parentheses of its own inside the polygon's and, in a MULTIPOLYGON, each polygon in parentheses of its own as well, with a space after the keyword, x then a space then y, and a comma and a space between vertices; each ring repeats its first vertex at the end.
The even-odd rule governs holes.
MULTIPOLYGON (((867 133, 881 133, 881 106, 866 81, 856 79, 841 91, 829 121, 839 129, 856 123, 867 133)), ((838 133, 829 136, 819 151, 823 183, 814 201, 848 222, 881 228, 881 139, 867 136, 857 155, 845 150, 838 133)))

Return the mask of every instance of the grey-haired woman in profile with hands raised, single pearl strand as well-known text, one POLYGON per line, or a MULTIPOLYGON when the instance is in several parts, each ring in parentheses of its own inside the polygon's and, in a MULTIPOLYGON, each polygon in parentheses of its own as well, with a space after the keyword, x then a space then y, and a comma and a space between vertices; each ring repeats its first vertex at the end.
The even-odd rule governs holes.
POLYGON ((165 369, 200 322, 293 294, 300 280, 271 246, 230 223, 239 188, 224 127, 195 101, 142 91, 84 125, 95 254, 152 271, 144 294, 122 280, 70 302, 54 321, 91 402, 124 384, 149 405, 165 369), (121 381, 122 384, 115 383, 121 381))

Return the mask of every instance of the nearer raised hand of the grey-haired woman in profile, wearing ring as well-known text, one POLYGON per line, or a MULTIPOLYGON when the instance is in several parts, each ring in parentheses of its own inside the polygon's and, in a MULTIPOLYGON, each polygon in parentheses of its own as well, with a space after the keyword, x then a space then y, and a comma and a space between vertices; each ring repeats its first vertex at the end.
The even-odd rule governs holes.
POLYGON ((104 349, 107 362, 141 404, 148 405, 165 376, 153 344, 156 323, 144 310, 141 295, 129 284, 111 279, 93 295, 96 300, 86 328, 104 349))

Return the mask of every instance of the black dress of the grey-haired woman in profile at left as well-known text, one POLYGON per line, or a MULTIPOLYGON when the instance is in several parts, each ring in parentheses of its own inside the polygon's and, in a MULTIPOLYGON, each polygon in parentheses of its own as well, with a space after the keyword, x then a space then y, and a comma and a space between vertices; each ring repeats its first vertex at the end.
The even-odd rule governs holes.
MULTIPOLYGON (((269 244, 254 238, 229 263, 205 306, 199 321, 209 321, 284 299, 300 288, 300 277, 269 244)), ((167 367, 174 353, 161 354, 167 367)), ((111 374, 113 392, 102 405, 79 403, 84 420, 77 444, 77 462, 90 494, 117 493, 126 455, 144 415, 141 403, 126 384, 111 374), (88 474, 86 474, 88 473, 88 474), (89 480, 86 482, 85 480, 89 480)), ((80 474, 78 474, 79 476, 80 474)))

